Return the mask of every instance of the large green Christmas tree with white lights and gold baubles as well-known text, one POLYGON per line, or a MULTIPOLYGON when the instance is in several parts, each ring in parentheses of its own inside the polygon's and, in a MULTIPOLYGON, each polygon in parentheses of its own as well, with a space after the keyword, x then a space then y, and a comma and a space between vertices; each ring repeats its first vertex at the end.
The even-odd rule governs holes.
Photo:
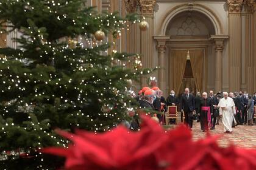
POLYGON ((48 161, 38 152, 46 146, 67 146, 69 141, 54 129, 108 131, 129 120, 127 112, 137 107, 129 93, 131 81, 151 70, 141 69, 140 62, 125 67, 138 61, 138 55, 104 52, 111 46, 105 35, 118 38, 138 16, 99 14, 84 4, 0 2, 1 31, 22 33, 15 39, 17 49, 0 49, 2 169, 55 169, 62 162, 52 165, 52 158, 48 161))

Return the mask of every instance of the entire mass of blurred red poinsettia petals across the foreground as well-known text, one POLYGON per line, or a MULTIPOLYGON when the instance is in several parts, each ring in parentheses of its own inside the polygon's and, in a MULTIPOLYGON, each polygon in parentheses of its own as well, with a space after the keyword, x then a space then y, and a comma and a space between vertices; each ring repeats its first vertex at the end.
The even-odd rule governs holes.
POLYGON ((256 169, 256 151, 221 148, 219 137, 193 141, 191 132, 179 126, 165 132, 151 118, 142 116, 141 131, 118 126, 104 134, 58 131, 73 144, 46 148, 45 153, 66 157, 66 169, 256 169))

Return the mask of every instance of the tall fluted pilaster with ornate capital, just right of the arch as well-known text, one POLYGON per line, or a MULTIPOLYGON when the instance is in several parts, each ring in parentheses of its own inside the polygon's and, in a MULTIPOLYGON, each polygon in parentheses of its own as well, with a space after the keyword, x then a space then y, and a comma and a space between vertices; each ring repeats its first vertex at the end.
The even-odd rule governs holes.
POLYGON ((241 89, 241 5, 243 0, 228 0, 229 5, 229 91, 241 89))

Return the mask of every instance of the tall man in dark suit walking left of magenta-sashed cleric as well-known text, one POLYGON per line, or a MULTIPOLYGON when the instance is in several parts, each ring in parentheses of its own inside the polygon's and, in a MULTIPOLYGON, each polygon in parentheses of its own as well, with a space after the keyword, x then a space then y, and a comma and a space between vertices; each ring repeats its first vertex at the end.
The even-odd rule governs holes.
POLYGON ((194 96, 190 94, 190 89, 185 89, 185 94, 180 100, 182 112, 185 113, 185 124, 191 128, 193 127, 193 114, 196 114, 194 96))

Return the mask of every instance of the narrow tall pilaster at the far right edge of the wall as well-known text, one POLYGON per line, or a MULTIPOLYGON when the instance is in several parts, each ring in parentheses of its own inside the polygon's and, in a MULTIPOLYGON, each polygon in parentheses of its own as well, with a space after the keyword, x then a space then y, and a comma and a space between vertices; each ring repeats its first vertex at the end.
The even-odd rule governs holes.
POLYGON ((246 61, 246 84, 247 92, 254 92, 254 46, 253 46, 253 31, 254 31, 254 0, 244 1, 245 10, 245 61, 246 61))

